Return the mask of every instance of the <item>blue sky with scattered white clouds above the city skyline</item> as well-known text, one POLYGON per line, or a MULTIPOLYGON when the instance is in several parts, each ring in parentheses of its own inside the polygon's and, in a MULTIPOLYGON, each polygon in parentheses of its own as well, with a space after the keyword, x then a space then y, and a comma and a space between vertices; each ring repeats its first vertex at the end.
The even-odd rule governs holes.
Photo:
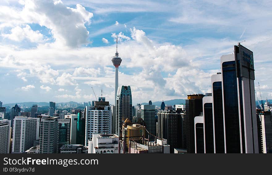
MULTIPOLYGON (((2 0, 0 101, 133 104, 211 92, 220 57, 238 42, 253 51, 255 90, 272 98, 272 1, 2 0), (258 86, 260 84, 260 90, 258 86)), ((257 99, 257 98, 256 98, 257 99)))

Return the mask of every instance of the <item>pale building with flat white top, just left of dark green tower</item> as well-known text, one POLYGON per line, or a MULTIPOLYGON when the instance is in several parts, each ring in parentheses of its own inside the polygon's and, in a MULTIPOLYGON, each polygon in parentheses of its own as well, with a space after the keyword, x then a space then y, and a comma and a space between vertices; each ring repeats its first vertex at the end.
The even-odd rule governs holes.
POLYGON ((70 144, 74 145, 76 144, 76 138, 77 138, 78 115, 68 113, 67 115, 64 116, 64 119, 70 120, 70 144))

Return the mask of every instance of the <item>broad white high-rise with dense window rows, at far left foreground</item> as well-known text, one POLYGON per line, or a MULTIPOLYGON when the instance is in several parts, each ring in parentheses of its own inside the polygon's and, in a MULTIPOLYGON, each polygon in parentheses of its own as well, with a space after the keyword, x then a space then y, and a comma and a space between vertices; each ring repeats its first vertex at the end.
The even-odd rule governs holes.
POLYGON ((39 139, 39 118, 15 116, 13 120, 12 152, 22 153, 33 147, 39 139))

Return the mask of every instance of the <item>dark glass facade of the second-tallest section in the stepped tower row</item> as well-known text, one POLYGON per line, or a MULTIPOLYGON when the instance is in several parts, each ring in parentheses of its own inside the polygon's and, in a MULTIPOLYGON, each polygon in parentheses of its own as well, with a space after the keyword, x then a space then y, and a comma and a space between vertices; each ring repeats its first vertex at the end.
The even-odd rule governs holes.
POLYGON ((215 152, 224 153, 224 119, 223 119, 223 98, 222 82, 213 83, 213 101, 214 101, 214 122, 215 122, 215 152))

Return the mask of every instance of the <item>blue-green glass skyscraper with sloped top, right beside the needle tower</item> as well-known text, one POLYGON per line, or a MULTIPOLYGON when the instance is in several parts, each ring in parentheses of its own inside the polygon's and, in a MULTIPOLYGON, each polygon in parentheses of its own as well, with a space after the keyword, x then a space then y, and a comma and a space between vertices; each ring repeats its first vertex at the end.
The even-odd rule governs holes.
POLYGON ((132 121, 131 89, 130 86, 120 86, 116 97, 116 135, 122 135, 122 124, 127 118, 132 121))

